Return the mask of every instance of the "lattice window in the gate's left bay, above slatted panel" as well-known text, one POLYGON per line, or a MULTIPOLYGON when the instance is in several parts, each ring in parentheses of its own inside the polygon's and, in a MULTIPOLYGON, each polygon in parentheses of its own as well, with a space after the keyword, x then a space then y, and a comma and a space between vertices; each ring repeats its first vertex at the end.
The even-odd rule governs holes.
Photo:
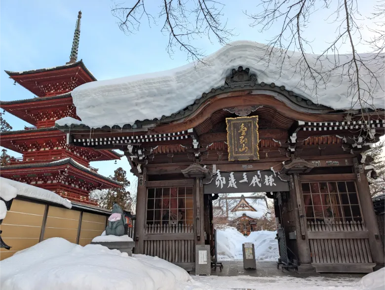
POLYGON ((192 225, 192 187, 163 187, 147 190, 148 225, 192 225))

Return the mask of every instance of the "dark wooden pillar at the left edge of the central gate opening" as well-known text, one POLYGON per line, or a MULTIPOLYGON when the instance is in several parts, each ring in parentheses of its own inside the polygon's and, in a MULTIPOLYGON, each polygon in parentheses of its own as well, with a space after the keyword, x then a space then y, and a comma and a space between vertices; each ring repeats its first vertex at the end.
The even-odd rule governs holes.
POLYGON ((195 244, 204 245, 204 200, 203 182, 199 177, 195 177, 195 244))

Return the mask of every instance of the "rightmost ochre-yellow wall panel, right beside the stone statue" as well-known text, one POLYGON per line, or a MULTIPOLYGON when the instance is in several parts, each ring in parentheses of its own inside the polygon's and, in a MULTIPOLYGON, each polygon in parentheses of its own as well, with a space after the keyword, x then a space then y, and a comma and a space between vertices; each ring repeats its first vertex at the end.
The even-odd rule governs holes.
POLYGON ((106 229, 106 221, 107 216, 105 215, 83 212, 79 245, 88 245, 93 238, 100 236, 106 229))

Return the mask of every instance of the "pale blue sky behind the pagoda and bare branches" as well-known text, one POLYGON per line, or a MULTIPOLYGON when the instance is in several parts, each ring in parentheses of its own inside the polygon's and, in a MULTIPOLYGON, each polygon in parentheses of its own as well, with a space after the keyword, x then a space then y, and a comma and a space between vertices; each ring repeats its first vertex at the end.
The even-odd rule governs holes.
MULTIPOLYGON (((127 0, 127 3, 132 2, 127 0)), ((158 1, 147 1, 147 9, 156 14, 158 1)), ((255 0, 224 0, 224 14, 229 17, 228 27, 234 28, 237 36, 232 40, 267 42, 269 33, 259 33, 248 26, 250 20, 243 11, 256 10, 255 0)), ((360 2, 360 1, 359 1, 360 2)), ((368 7, 374 0, 366 0, 360 7, 362 14, 369 13, 368 7)), ((25 71, 64 65, 69 60, 77 11, 82 11, 78 58, 98 80, 106 80, 135 74, 144 74, 175 68, 187 63, 187 55, 176 51, 170 58, 166 51, 168 37, 160 32, 159 26, 150 28, 146 22, 141 31, 127 36, 116 25, 111 14, 111 0, 1 0, 0 1, 0 100, 9 101, 33 98, 33 94, 12 81, 3 70, 25 71)), ((315 12, 309 25, 308 37, 313 40, 314 52, 319 52, 332 39, 330 31, 335 25, 324 25, 319 19, 326 19, 321 11, 315 12)), ((329 21, 331 22, 331 20, 329 21)), ((365 23, 364 23, 365 24, 365 23)), ((365 35, 365 32, 364 32, 365 35)), ((196 45, 211 53, 220 44, 207 39, 196 40, 196 45)), ((365 47, 359 47, 366 52, 365 47)), ((343 49, 341 52, 345 52, 343 49)), ((129 106, 130 104, 122 104, 129 106)), ((151 104, 149 104, 151 105, 151 104)), ((25 122, 6 114, 6 120, 14 130, 23 129, 25 122)), ((18 154, 14 154, 19 156, 18 154)), ((127 172, 129 165, 125 158, 114 164, 94 162, 91 166, 100 168, 104 175, 113 174, 118 166, 127 172)), ((132 176, 130 177, 132 179, 132 176)))

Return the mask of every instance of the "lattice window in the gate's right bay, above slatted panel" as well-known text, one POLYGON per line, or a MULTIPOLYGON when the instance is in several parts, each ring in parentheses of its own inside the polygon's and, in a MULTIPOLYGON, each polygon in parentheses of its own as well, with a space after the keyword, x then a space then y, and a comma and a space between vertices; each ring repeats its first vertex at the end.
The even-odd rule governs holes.
POLYGON ((302 183, 302 193, 309 222, 362 221, 354 181, 302 183))

